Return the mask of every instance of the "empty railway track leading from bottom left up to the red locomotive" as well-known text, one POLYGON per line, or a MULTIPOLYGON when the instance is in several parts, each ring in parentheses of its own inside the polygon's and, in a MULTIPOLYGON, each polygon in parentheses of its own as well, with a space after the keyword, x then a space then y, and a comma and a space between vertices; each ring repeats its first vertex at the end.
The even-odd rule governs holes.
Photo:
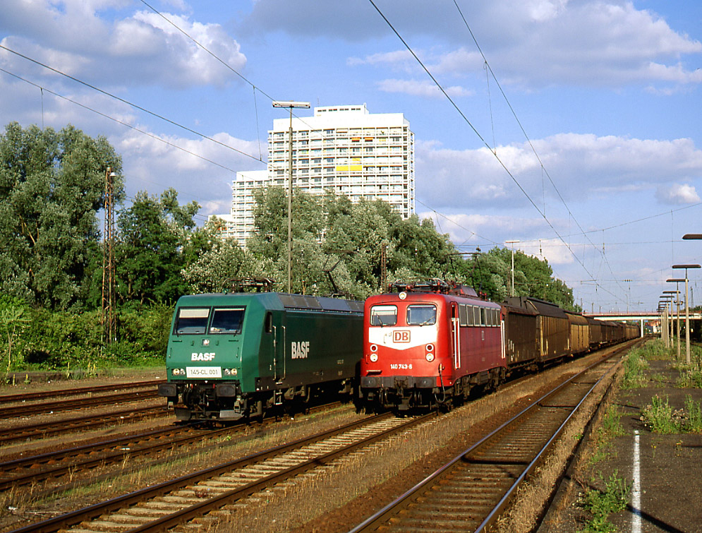
POLYGON ((128 493, 13 533, 164 531, 435 417, 385 413, 128 493))

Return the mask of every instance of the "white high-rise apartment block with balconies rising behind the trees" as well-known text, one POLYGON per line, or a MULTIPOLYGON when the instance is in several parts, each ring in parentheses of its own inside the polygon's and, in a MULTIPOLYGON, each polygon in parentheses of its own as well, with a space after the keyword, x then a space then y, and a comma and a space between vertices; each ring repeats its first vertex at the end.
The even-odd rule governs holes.
MULTIPOLYGON (((223 236, 241 246, 253 232, 253 191, 289 179, 290 119, 275 119, 268 132, 266 170, 237 172, 231 214, 223 236)), ((371 114, 363 105, 315 107, 314 116, 292 120, 293 188, 332 191, 351 201, 385 200, 404 218, 415 210, 414 134, 401 113, 371 114)))

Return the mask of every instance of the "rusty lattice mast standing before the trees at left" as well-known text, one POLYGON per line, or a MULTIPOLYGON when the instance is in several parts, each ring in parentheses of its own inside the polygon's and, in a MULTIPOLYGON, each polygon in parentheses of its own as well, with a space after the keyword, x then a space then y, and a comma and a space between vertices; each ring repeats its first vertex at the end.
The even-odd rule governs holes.
POLYGON ((116 340, 117 321, 114 312, 115 268, 114 268, 114 176, 107 167, 105 171, 105 225, 102 246, 102 335, 104 345, 116 340))

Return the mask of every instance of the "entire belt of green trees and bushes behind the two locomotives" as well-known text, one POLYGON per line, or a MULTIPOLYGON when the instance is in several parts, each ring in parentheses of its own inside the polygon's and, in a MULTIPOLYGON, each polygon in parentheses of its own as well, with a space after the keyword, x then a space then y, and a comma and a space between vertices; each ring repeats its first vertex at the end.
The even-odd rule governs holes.
MULTIPOLYGON (((137 193, 128 208, 121 160, 103 137, 8 124, 0 135, 0 354, 5 369, 73 369, 163 357, 172 305, 182 294, 218 292, 234 277, 270 277, 287 290, 286 191, 255 194, 246 249, 197 227, 200 206, 174 189, 137 193), (118 342, 102 328, 102 220, 108 167, 114 178, 118 342)), ((291 292, 365 299, 384 282, 440 277, 509 294, 511 251, 456 255, 431 220, 403 220, 388 203, 293 191, 291 292), (385 274, 385 279, 383 275, 385 274), (474 284, 473 284, 474 282, 474 284)), ((569 308, 572 294, 536 258, 515 255, 517 294, 569 308)))

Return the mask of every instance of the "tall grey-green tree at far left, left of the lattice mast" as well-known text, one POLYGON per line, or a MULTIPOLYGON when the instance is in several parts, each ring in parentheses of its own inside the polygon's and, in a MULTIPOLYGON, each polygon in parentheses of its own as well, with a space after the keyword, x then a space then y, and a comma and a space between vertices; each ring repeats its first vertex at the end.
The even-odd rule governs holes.
POLYGON ((0 288, 56 309, 81 306, 99 253, 97 212, 107 167, 123 197, 121 160, 107 139, 66 126, 16 122, 0 136, 0 288))

